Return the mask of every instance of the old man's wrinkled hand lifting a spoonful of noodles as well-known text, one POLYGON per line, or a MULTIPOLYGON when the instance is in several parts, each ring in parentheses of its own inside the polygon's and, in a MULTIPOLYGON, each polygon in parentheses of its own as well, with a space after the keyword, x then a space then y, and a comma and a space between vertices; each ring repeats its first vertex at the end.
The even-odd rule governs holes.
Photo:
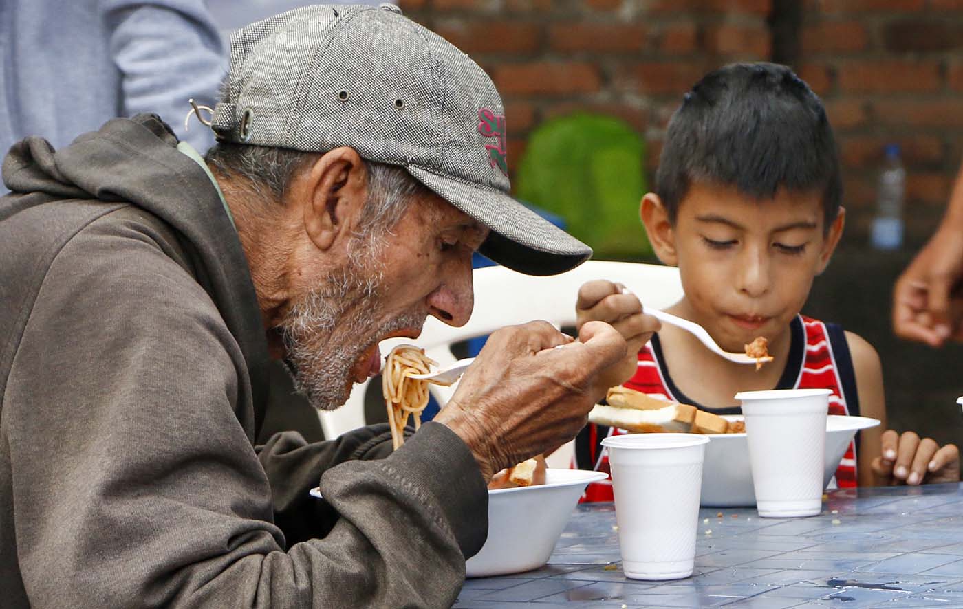
POLYGON ((434 420, 468 445, 487 482, 575 437, 608 389, 600 377, 624 357, 606 323, 586 323, 574 342, 547 321, 509 326, 488 338, 434 420))

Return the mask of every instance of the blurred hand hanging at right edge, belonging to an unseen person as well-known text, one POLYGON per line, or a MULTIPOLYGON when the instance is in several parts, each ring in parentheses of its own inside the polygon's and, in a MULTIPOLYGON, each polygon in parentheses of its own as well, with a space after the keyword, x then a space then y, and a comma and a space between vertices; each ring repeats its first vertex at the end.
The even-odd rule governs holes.
POLYGON ((893 330, 903 339, 942 346, 963 341, 963 231, 941 228, 897 280, 893 330))

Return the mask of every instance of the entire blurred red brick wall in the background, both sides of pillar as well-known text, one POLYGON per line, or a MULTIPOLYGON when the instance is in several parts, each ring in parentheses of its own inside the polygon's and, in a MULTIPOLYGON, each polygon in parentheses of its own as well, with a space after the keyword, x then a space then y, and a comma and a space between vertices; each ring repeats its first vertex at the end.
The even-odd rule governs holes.
MULTIPOLYGON (((909 171, 907 231, 942 213, 963 140, 963 0, 401 0, 492 75, 513 169, 540 121, 621 116, 658 162, 665 123, 706 71, 791 63, 823 97, 840 141, 849 226, 866 241, 885 143, 909 171), (773 44, 775 42, 775 44, 773 44)), ((650 181, 651 183, 651 181, 650 181)))

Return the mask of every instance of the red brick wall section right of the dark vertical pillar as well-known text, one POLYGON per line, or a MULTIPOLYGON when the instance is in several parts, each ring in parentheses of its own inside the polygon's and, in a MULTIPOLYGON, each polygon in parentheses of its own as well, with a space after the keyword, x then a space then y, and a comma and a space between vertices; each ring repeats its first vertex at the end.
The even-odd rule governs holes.
POLYGON ((888 141, 907 167, 907 233, 924 241, 942 214, 963 141, 963 1, 809 0, 796 65, 837 130, 853 212, 865 239, 875 172, 888 141))

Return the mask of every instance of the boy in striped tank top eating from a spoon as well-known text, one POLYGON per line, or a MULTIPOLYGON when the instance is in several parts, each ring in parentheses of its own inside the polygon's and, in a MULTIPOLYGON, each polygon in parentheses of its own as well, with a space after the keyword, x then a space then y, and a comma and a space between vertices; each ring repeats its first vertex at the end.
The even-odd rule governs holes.
MULTIPOLYGON (((738 392, 820 388, 829 413, 864 415, 885 426, 882 370, 870 343, 836 324, 799 315, 813 279, 843 233, 840 168, 820 99, 792 70, 772 63, 722 67, 686 93, 665 138, 657 189, 639 210, 664 264, 678 266, 685 295, 667 311, 695 321, 727 351, 768 339, 774 360, 760 370, 734 364, 690 333, 664 325, 638 351, 625 387, 739 414, 738 392)), ((638 298, 608 281, 579 292, 578 323, 639 315, 638 298)), ((952 444, 912 432, 860 432, 836 472, 840 487, 959 479, 952 444), (885 440, 885 442, 884 442, 885 440)), ((608 469, 601 440, 624 433, 588 425, 576 442, 579 467, 608 469)), ((611 484, 587 500, 611 500, 611 484)))

